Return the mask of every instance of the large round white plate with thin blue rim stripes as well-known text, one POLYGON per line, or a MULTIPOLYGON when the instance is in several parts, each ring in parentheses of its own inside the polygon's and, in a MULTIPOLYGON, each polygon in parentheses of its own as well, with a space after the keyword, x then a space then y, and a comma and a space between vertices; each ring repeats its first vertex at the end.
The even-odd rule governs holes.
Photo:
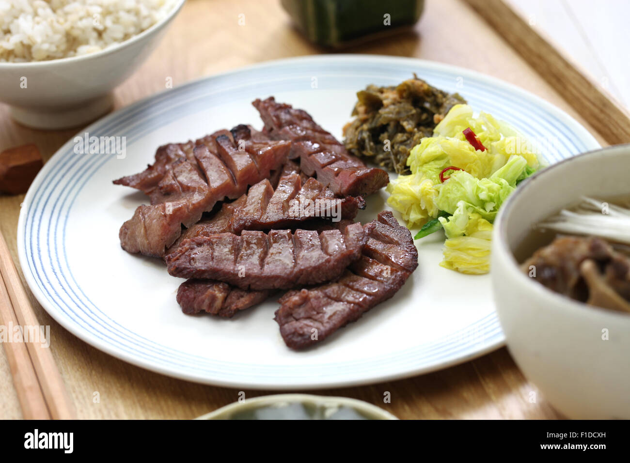
MULTIPOLYGON (((159 260, 120 248, 118 228, 146 198, 112 180, 141 171, 156 147, 221 127, 261 127, 251 106, 274 95, 304 108, 341 136, 355 92, 397 84, 416 72, 459 91, 473 106, 530 137, 559 140, 550 163, 599 147, 554 106, 510 84, 434 62, 332 55, 268 62, 170 89, 90 125, 90 136, 127 137, 127 156, 75 154, 69 140, 44 166, 20 214, 20 263, 33 294, 87 343, 146 369, 232 387, 302 389, 395 379, 464 362, 503 345, 488 275, 438 266, 440 237, 418 243, 420 266, 391 300, 306 352, 289 350, 273 321, 275 300, 233 319, 187 316, 182 280, 159 260)), ((83 134, 83 132, 81 132, 83 134)), ((369 198, 371 220, 386 193, 369 198)))

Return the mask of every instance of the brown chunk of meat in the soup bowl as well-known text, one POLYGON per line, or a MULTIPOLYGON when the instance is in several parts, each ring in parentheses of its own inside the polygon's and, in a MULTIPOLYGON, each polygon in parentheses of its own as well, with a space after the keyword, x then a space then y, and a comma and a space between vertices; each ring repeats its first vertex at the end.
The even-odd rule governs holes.
POLYGON ((559 294, 592 306, 630 312, 630 258, 604 239, 557 237, 521 268, 559 294))

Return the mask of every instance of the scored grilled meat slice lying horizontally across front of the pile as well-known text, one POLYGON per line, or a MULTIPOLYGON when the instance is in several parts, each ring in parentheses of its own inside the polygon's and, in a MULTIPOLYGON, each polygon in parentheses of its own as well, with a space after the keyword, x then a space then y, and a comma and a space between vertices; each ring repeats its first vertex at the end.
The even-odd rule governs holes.
POLYGON ((340 277, 361 255, 372 228, 219 233, 187 239, 165 260, 175 277, 208 278, 242 289, 289 289, 340 277))

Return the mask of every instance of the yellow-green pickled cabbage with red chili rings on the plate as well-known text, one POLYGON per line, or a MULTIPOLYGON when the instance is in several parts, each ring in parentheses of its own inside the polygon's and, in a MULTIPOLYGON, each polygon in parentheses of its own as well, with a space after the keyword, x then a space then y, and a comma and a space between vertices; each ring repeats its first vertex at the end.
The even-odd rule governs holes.
POLYGON ((473 117, 470 106, 455 105, 435 127, 433 137, 411 149, 407 159, 411 174, 399 175, 387 185, 387 203, 403 215, 409 228, 430 222, 416 238, 444 228, 442 266, 487 273, 492 222, 501 204, 520 181, 541 168, 530 146, 508 123, 483 111, 473 117), (474 132, 479 149, 466 139, 466 129, 474 132), (461 170, 445 170, 449 167, 461 170))

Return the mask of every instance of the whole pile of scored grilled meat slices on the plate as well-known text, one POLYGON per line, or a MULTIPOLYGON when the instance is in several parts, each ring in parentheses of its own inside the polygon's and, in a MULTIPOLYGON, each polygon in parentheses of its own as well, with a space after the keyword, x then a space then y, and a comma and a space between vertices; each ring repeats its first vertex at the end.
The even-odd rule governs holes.
POLYGON ((122 225, 120 243, 188 278, 177 293, 186 314, 232 317, 275 290, 307 287, 276 312, 287 345, 305 348, 312 328, 321 341, 392 297, 417 251, 389 212, 364 226, 352 220, 362 196, 387 185, 385 171, 349 154, 306 111, 273 97, 253 104, 263 132, 238 125, 167 144, 144 171, 114 181, 150 199, 122 225))

